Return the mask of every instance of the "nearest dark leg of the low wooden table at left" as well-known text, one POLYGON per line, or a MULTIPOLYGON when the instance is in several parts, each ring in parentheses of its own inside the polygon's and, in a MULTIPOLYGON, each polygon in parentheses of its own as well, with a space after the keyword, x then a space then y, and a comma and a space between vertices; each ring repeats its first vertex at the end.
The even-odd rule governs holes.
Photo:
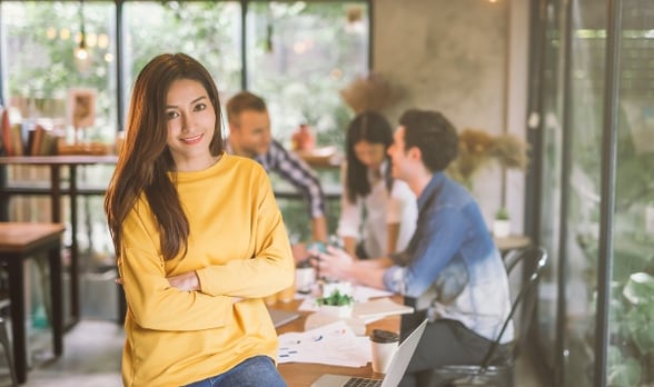
POLYGON ((13 341, 13 363, 19 384, 27 380, 27 339, 24 320, 24 272, 23 257, 10 255, 7 260, 9 274, 9 298, 11 300, 11 333, 13 341))

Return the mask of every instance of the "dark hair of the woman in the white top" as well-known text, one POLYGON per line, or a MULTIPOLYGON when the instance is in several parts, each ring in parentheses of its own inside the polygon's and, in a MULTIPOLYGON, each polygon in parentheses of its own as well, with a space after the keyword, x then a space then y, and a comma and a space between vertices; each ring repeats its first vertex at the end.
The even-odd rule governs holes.
MULTIPOLYGON (((382 143, 387 150, 393 143, 393 129, 390 123, 376 111, 364 111, 357 115, 347 128, 346 153, 347 153, 347 199, 355 202, 357 196, 365 197, 370 194, 370 182, 367 179, 367 167, 357 158, 354 147, 360 141, 382 143)), ((387 153, 384 159, 388 160, 387 153)), ((390 168, 386 169, 386 187, 390 190, 393 178, 390 168)))

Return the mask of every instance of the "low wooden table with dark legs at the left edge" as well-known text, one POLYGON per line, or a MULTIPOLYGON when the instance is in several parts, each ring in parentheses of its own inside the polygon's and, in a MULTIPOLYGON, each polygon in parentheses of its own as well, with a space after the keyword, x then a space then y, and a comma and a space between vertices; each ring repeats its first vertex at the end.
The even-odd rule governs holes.
POLYGON ((9 274, 13 359, 18 383, 27 380, 27 333, 23 260, 48 258, 52 306, 54 355, 63 353, 63 302, 61 288, 61 224, 0 222, 0 261, 9 274))

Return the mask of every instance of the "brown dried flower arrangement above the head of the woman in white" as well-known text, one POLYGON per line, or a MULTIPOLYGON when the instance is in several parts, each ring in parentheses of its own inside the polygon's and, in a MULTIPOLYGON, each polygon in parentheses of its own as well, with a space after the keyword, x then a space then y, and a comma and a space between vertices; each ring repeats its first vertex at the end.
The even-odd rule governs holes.
POLYGON ((355 115, 365 110, 383 111, 400 97, 399 90, 377 73, 358 77, 339 93, 355 115))

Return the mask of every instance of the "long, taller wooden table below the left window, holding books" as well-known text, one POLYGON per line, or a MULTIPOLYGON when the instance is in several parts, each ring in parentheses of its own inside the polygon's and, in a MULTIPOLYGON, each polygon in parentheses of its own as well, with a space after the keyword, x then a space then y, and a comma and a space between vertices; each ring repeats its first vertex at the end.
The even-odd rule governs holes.
MULTIPOLYGON (((50 195, 52 221, 62 222, 63 217, 61 215, 61 197, 68 195, 70 197, 70 310, 71 320, 69 327, 73 326, 80 318, 80 295, 79 295, 79 250, 77 246, 77 167, 90 166, 90 165, 113 165, 116 163, 117 156, 91 156, 91 155, 70 155, 70 156, 12 156, 12 157, 0 157, 0 165, 30 165, 30 166, 46 166, 50 167, 50 188, 47 192, 50 195), (69 170, 69 185, 68 189, 61 187, 61 168, 68 167, 69 170)), ((7 208, 7 200, 9 195, 31 195, 34 192, 33 189, 21 189, 0 187, 1 201, 0 214, 4 214, 7 208)), ((105 188, 96 191, 95 194, 103 195, 105 188)), ((4 214, 4 218, 7 215, 4 214)), ((9 220, 9 219, 0 219, 9 220)))

